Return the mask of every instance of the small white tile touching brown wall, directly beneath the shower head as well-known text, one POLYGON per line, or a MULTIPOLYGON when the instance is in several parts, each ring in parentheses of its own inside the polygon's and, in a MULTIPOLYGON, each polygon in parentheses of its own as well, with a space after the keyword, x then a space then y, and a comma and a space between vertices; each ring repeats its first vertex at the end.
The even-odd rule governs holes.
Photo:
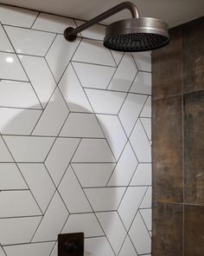
POLYGON ((140 71, 151 72, 151 56, 149 51, 134 52, 132 55, 137 62, 137 68, 140 71))

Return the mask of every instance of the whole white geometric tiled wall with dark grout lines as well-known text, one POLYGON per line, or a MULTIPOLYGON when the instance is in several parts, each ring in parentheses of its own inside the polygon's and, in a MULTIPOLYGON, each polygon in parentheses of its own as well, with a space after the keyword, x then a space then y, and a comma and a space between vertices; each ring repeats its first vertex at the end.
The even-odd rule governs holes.
POLYGON ((0 4, 0 256, 151 253, 150 52, 103 47, 95 25, 0 4))

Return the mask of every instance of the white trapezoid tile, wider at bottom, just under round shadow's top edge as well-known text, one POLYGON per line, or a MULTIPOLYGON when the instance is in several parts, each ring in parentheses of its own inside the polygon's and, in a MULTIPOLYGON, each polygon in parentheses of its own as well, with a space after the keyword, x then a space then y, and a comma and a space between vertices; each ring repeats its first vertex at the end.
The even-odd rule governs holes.
POLYGON ((95 115, 80 113, 70 113, 60 135, 89 138, 105 137, 95 115))

